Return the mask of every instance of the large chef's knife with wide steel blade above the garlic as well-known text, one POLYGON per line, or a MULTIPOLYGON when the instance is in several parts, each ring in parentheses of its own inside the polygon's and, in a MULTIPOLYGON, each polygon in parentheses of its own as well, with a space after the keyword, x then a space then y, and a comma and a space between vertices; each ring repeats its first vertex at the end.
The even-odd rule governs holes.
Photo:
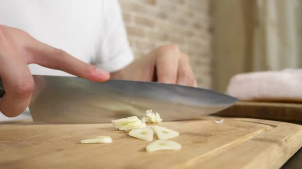
MULTIPOLYGON (((29 105, 34 121, 107 123, 152 109, 163 121, 196 119, 234 105, 238 99, 209 89, 158 82, 33 75, 29 105)), ((0 79, 0 98, 5 94, 0 79)))

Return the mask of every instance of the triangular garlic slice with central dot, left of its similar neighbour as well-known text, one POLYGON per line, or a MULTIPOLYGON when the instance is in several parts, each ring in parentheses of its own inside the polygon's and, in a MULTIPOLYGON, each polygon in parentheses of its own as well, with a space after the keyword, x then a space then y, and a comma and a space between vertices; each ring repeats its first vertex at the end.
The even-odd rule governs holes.
POLYGON ((151 127, 137 128, 129 131, 128 134, 132 137, 136 137, 145 141, 152 141, 154 129, 151 127))

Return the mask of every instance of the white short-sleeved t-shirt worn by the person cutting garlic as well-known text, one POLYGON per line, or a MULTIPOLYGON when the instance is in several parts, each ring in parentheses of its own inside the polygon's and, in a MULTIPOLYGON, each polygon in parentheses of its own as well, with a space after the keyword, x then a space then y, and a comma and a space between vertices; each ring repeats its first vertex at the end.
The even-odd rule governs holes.
MULTIPOLYGON (((0 25, 19 28, 109 72, 134 59, 118 0, 0 0, 0 25)), ((32 74, 72 76, 35 64, 29 68, 32 74)))

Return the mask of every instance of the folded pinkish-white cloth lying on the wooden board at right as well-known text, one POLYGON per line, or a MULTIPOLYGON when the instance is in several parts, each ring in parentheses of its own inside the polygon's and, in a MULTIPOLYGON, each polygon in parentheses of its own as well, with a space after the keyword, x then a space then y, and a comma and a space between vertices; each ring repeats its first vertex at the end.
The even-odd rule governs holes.
POLYGON ((302 100, 302 69, 251 72, 235 75, 226 93, 240 100, 302 100))

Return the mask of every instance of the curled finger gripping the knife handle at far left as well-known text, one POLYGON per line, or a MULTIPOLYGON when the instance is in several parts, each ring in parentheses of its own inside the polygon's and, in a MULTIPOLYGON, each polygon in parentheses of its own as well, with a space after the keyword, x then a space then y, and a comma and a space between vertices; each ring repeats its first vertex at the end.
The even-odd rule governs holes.
POLYGON ((13 41, 1 28, 0 65, 0 77, 6 91, 0 102, 0 111, 8 117, 15 117, 28 107, 34 90, 34 80, 13 41))

